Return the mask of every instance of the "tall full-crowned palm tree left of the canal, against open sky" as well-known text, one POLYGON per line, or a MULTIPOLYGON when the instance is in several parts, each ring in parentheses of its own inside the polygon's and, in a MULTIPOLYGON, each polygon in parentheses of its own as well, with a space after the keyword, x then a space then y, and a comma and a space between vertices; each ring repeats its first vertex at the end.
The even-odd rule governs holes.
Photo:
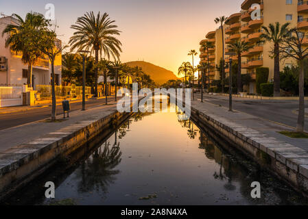
MULTIPOLYGON (((84 16, 77 19, 75 25, 71 25, 72 29, 75 29, 75 33, 69 40, 71 44, 71 50, 89 50, 91 53, 95 53, 95 64, 97 65, 99 55, 110 60, 110 56, 114 60, 118 60, 121 50, 121 42, 115 38, 120 35, 117 30, 117 25, 114 25, 115 21, 111 21, 109 15, 100 12, 95 17, 93 12, 86 12, 84 16)), ((95 96, 97 96, 97 79, 98 79, 98 68, 95 68, 95 96)))

